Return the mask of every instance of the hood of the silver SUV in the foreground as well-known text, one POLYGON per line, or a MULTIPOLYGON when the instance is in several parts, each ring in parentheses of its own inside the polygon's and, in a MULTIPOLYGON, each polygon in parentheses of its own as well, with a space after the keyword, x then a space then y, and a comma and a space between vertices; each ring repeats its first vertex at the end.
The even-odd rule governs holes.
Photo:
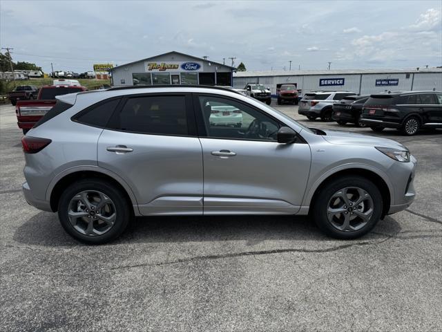
POLYGON ((324 130, 327 134, 323 136, 327 142, 338 145, 365 145, 370 147, 392 147, 394 149, 407 149, 396 140, 381 138, 377 136, 363 135, 340 130, 324 130))

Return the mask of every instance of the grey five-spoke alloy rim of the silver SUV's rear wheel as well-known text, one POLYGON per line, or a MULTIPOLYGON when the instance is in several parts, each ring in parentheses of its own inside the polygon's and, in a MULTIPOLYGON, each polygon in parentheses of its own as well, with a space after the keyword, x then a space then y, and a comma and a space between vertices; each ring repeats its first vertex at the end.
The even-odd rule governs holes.
POLYGON ((106 194, 97 190, 85 190, 70 200, 68 217, 77 232, 94 237, 111 230, 117 210, 106 194))

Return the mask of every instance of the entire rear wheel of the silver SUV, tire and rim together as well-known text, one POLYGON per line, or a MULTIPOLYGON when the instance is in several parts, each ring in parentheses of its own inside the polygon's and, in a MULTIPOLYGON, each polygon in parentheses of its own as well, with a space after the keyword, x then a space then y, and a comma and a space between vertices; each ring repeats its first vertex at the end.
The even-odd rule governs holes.
POLYGON ((75 239, 90 244, 113 241, 131 219, 128 202, 115 185, 86 178, 61 194, 58 215, 61 225, 75 239))

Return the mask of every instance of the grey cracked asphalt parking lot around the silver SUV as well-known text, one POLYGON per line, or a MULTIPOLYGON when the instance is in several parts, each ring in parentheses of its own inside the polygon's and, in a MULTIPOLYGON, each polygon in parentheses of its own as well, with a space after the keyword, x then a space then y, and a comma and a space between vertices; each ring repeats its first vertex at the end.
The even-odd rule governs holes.
POLYGON ((23 199, 14 110, 0 106, 0 331, 442 330, 442 131, 381 133, 419 160, 417 197, 358 240, 305 217, 177 216, 84 246, 23 199))

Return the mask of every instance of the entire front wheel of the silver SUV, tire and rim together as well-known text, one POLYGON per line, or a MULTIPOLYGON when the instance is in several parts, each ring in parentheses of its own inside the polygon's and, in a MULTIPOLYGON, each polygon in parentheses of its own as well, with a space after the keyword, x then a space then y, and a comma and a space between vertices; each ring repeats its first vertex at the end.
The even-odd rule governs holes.
POLYGON ((383 201, 378 187, 361 176, 345 176, 323 187, 313 205, 312 216, 330 237, 356 239, 379 221, 383 201))

